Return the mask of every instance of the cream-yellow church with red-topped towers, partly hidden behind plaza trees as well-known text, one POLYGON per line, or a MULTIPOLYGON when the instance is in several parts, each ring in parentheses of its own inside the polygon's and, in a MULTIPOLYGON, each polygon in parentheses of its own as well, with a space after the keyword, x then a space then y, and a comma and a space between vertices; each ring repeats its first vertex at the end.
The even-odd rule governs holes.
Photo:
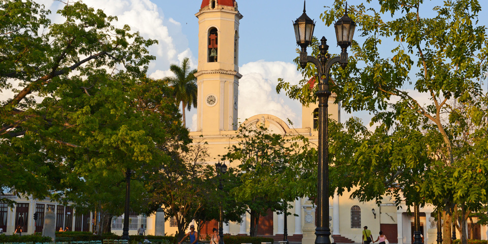
MULTIPOLYGON (((243 2, 245 4, 245 2, 243 2)), ((230 140, 236 135, 239 79, 239 24, 243 18, 238 11, 235 0, 203 0, 200 10, 195 14, 198 18, 198 72, 195 74, 198 85, 197 100, 197 131, 190 135, 208 143, 209 159, 227 153, 230 140)), ((250 21, 253 22, 253 21, 250 21)), ((309 81, 314 85, 314 79, 309 81)), ((240 84, 246 85, 246 84, 240 84)), ((329 99, 331 118, 340 121, 340 105, 334 104, 334 95, 329 99)), ((291 130, 285 121, 271 114, 256 114, 247 118, 242 126, 264 124, 272 133, 281 135, 306 136, 311 142, 318 141, 318 132, 314 130, 317 122, 318 105, 302 107, 302 128, 291 130)), ((216 162, 207 161, 208 164, 216 162)), ((235 165, 230 165, 235 167, 235 165)), ((329 199, 330 227, 332 241, 339 243, 361 242, 363 226, 367 225, 376 238, 382 230, 391 243, 413 242, 413 216, 406 212, 406 206, 397 209, 393 202, 384 202, 378 206, 375 202, 359 202, 350 199, 349 194, 335 195, 329 199)), ((308 198, 297 199, 288 212, 295 214, 287 218, 289 241, 312 243, 315 240, 315 206, 308 198), (311 239, 313 238, 313 240, 311 239)), ((437 223, 431 217, 433 206, 420 209, 420 222, 424 243, 435 243, 437 223)), ((148 219, 149 222, 149 219, 148 219)), ((174 233, 167 221, 166 233, 174 233)), ((210 222, 208 227, 218 227, 217 221, 210 222)), ((270 212, 261 217, 258 235, 283 240, 284 216, 270 212)), ((486 227, 478 228, 480 238, 486 239, 486 227), (483 229, 483 230, 481 230, 483 229), (481 235, 482 233, 482 235, 481 235)), ((241 223, 224 225, 224 233, 231 235, 249 235, 250 216, 242 217, 241 223)), ((206 233, 201 233, 206 234, 206 233)), ((460 235, 458 235, 460 236, 460 235)))

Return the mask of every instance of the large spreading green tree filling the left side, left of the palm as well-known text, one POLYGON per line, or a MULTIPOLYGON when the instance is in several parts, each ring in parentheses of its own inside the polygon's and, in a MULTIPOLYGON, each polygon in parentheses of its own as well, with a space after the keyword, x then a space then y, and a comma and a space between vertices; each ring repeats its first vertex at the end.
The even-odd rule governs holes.
POLYGON ((71 202, 109 223, 130 170, 131 208, 150 212, 148 179, 190 142, 172 90, 146 77, 157 41, 81 2, 58 11, 60 24, 30 0, 0 12, 0 88, 21 89, 0 107, 2 193, 71 202))

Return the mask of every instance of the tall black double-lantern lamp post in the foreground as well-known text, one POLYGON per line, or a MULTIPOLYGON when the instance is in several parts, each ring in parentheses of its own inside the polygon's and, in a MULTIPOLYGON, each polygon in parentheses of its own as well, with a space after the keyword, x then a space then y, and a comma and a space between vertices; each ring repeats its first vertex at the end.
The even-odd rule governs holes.
POLYGON ((330 243, 329 228, 329 173, 328 173, 328 99, 329 91, 329 71, 335 63, 340 63, 343 68, 347 65, 347 47, 351 45, 356 23, 347 15, 347 5, 344 16, 335 24, 335 35, 337 44, 341 46, 340 56, 330 57, 327 53, 329 46, 326 44, 325 37, 322 37, 319 46, 320 54, 316 57, 307 55, 307 46, 312 43, 315 23, 305 13, 305 3, 303 2, 303 14, 293 23, 295 28, 296 43, 301 47, 300 66, 305 68, 307 63, 312 63, 318 70, 318 92, 319 100, 319 146, 318 146, 318 184, 317 184, 317 228, 315 229, 315 244, 330 243))

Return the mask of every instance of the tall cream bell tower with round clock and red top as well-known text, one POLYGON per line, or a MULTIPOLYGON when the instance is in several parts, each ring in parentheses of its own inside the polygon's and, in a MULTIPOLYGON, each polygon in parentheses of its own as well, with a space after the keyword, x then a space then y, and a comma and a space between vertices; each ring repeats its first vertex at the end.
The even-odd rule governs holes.
POLYGON ((237 130, 239 20, 235 0, 203 0, 198 18, 197 131, 237 130))

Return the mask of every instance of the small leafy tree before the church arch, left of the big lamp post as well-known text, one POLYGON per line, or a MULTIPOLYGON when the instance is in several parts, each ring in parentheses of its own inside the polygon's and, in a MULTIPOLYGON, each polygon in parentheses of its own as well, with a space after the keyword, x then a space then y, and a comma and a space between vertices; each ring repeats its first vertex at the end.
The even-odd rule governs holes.
POLYGON ((256 236, 259 217, 266 216, 268 209, 283 212, 289 207, 288 201, 303 196, 303 189, 309 185, 296 179, 304 171, 303 165, 316 164, 315 149, 309 149, 308 140, 302 136, 271 134, 259 124, 240 125, 236 133, 237 143, 228 148, 223 159, 239 164, 240 184, 231 193, 247 206, 250 235, 256 236))

